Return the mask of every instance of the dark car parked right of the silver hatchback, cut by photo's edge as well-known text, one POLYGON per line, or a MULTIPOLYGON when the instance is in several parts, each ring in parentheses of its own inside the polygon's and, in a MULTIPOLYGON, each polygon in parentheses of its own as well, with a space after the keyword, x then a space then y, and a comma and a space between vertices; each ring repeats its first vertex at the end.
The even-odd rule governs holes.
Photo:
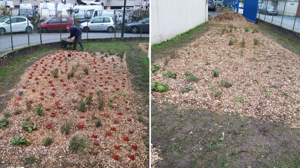
POLYGON ((125 31, 130 31, 131 33, 138 33, 139 31, 149 31, 149 18, 139 20, 137 22, 128 22, 124 26, 125 31), (142 29, 143 23, 143 29, 142 29))

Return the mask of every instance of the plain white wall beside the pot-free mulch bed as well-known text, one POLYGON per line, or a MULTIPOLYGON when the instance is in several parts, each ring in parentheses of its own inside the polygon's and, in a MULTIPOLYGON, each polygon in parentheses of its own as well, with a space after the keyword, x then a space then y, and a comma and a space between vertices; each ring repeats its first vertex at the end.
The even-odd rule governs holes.
POLYGON ((205 22, 206 0, 152 0, 151 44, 171 39, 205 22))

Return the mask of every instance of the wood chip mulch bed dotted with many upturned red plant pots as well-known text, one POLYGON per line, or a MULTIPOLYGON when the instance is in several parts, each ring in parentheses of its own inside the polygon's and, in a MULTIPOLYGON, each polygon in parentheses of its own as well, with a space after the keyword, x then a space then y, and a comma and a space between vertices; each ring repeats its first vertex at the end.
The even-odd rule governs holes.
MULTIPOLYGON (((117 56, 106 58, 87 52, 59 51, 27 68, 20 82, 10 90, 13 97, 7 101, 3 111, 13 114, 21 109, 22 113, 8 117, 13 123, 8 125, 9 128, 0 130, 2 165, 26 165, 24 158, 35 156, 39 161, 31 167, 53 167, 52 164, 59 167, 72 163, 82 164, 82 167, 87 163, 102 164, 104 167, 146 167, 144 163, 149 159, 149 149, 143 144, 143 136, 147 135, 147 128, 137 120, 136 111, 140 107, 135 104, 135 98, 138 95, 131 85, 132 76, 126 62, 118 59, 114 61, 113 57, 117 56), (67 56, 69 53, 70 57, 67 56), (72 67, 76 68, 74 77, 67 79, 67 73, 72 71, 72 67), (55 68, 59 70, 58 78, 53 78, 50 73, 55 68), (88 68, 88 75, 85 75, 84 68, 88 68), (77 78, 79 74, 82 75, 81 79, 77 78), (19 91, 23 92, 21 96, 18 95, 19 91), (101 110, 98 109, 96 91, 104 93, 104 108, 101 110), (77 103, 84 101, 88 95, 93 96, 91 105, 85 106, 85 112, 79 112, 77 103), (29 100, 33 101, 33 109, 28 111, 26 102, 29 100), (46 109, 44 116, 35 114, 34 108, 39 103, 46 109), (50 117, 52 112, 55 117, 50 117), (101 119, 102 126, 95 126, 97 119, 92 118, 93 113, 101 119), (108 117, 104 117, 104 113, 108 117), (32 133, 26 132, 20 124, 27 117, 37 126, 32 133), (60 124, 64 120, 73 122, 68 135, 60 132, 60 124), (51 123, 52 127, 47 129, 46 123, 51 123), (79 129, 79 123, 83 123, 83 129, 79 129), (92 138, 93 134, 98 137, 92 138), (10 141, 18 135, 28 137, 31 144, 25 147, 13 146, 10 141), (48 135, 53 138, 53 143, 45 147, 43 143, 48 135), (84 136, 91 143, 98 142, 99 146, 93 145, 93 149, 86 150, 83 155, 70 151, 68 146, 74 135, 84 136), (125 140, 128 137, 129 141, 123 141, 124 137, 125 140), (134 150, 135 145, 137 150, 134 150), (119 150, 114 146, 119 146, 119 150), (112 159, 113 155, 118 155, 119 161, 112 159), (128 155, 134 155, 134 160, 128 155)), ((3 113, 0 118, 4 118, 3 113)))

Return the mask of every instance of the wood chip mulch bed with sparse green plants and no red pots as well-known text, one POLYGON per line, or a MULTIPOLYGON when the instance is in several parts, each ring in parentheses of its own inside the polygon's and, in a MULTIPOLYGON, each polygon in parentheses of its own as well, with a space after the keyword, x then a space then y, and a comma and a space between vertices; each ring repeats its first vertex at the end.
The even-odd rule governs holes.
POLYGON ((222 34, 222 28, 212 26, 208 33, 180 49, 178 58, 169 59, 167 65, 164 60, 155 62, 166 70, 152 73, 151 82, 160 80, 169 84, 171 90, 153 92, 152 99, 183 109, 209 109, 282 121, 290 128, 300 127, 299 57, 262 33, 251 33, 252 29, 245 32, 239 22, 231 23, 238 27, 232 33, 222 34), (259 45, 254 45, 254 38, 259 40, 259 45), (230 39, 233 45, 229 45, 230 39), (239 44, 242 39, 246 42, 243 56, 239 44), (213 76, 216 67, 219 77, 213 76), (177 74, 176 79, 163 76, 168 70, 177 74), (185 71, 190 71, 199 81, 188 81, 185 71), (227 80, 232 86, 221 86, 221 80, 227 80), (182 93, 188 86, 193 90, 182 93), (242 103, 238 102, 238 96, 242 96, 242 103))

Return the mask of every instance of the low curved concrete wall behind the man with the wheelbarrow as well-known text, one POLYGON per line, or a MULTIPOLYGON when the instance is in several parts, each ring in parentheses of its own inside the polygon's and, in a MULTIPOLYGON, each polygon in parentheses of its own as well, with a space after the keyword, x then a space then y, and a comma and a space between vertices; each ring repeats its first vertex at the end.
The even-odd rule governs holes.
MULTIPOLYGON (((125 37, 125 38, 104 38, 104 39, 83 39, 82 42, 132 42, 132 41, 149 41, 149 37, 125 37)), ((61 42, 52 42, 38 45, 31 45, 29 47, 18 48, 8 53, 0 55, 0 68, 8 65, 16 58, 28 55, 35 51, 45 48, 60 47, 61 42)), ((63 48, 62 48, 63 49, 63 48)))

